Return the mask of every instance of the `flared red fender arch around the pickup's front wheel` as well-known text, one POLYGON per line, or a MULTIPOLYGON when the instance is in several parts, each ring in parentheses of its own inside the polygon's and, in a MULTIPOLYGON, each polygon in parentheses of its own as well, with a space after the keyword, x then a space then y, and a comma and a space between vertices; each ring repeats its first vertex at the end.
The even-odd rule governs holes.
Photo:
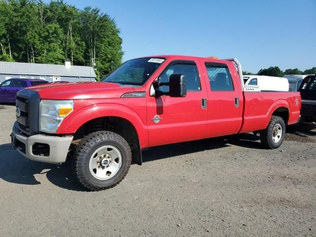
POLYGON ((146 124, 135 111, 115 103, 94 104, 74 111, 62 121, 57 129, 57 134, 74 134, 84 123, 102 117, 119 117, 128 120, 137 132, 141 149, 149 146, 146 124))

